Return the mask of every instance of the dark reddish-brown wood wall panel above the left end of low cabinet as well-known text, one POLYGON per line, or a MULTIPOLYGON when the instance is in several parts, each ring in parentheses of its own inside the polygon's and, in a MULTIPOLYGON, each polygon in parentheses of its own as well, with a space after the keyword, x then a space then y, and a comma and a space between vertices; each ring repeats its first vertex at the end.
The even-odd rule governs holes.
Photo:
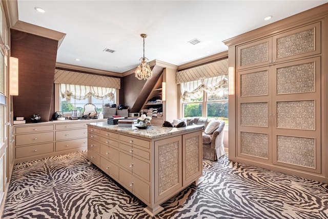
POLYGON ((39 114, 42 122, 54 112, 54 72, 58 41, 11 30, 11 56, 18 58, 19 95, 13 96, 13 116, 31 122, 39 114))

